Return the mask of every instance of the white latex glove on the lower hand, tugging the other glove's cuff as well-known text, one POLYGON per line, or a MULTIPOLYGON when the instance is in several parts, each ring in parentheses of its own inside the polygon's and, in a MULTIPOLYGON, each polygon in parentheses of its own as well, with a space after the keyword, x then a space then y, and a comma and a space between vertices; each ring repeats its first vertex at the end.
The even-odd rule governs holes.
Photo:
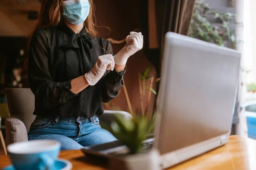
POLYGON ((99 56, 91 71, 84 74, 85 79, 89 85, 95 85, 105 74, 106 70, 113 71, 115 61, 112 54, 99 56))

